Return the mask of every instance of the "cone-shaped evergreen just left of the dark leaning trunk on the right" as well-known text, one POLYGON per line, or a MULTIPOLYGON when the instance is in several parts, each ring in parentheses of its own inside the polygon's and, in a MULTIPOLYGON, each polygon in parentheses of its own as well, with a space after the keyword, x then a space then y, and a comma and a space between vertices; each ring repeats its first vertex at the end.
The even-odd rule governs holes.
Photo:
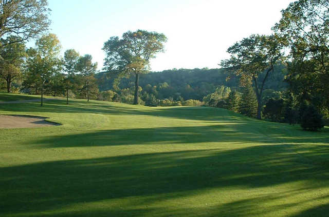
POLYGON ((257 98, 251 85, 243 88, 241 101, 239 103, 239 112, 249 117, 257 116, 257 98))

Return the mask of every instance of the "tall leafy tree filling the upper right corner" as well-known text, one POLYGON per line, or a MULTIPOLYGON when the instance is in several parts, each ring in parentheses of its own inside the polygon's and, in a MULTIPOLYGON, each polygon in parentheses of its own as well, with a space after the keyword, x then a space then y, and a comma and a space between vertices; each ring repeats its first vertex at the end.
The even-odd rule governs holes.
POLYGON ((300 102, 329 111, 329 2, 299 0, 281 12, 274 29, 288 43, 286 81, 300 102))

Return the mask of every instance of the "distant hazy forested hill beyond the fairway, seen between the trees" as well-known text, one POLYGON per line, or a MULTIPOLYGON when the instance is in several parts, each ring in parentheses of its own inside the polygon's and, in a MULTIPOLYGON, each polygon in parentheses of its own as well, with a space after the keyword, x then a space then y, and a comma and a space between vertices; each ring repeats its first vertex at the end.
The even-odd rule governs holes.
MULTIPOLYGON (((283 82, 285 70, 283 65, 278 65, 270 74, 265 84, 265 89, 281 91, 286 89, 283 82)), ((260 75, 262 76, 262 74, 260 75)), ((140 76, 139 86, 143 91, 152 93, 157 91, 158 98, 177 98, 185 100, 202 100, 207 94, 215 91, 218 86, 227 86, 239 89, 239 77, 231 76, 227 80, 228 71, 225 69, 171 69, 161 72, 150 72, 140 76)), ((99 90, 113 90, 114 77, 108 77, 104 72, 96 74, 99 81, 99 90)), ((134 77, 122 78, 120 89, 134 88, 134 77)))

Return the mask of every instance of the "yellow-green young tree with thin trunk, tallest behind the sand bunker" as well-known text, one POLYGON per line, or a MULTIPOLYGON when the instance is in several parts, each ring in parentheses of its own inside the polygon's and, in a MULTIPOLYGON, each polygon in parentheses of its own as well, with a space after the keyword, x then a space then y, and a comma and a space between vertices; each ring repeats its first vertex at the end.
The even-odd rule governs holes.
POLYGON ((61 44, 55 34, 43 35, 35 43, 35 49, 28 50, 27 69, 31 77, 40 82, 41 106, 43 105, 44 84, 51 75, 61 70, 61 60, 58 57, 61 44))

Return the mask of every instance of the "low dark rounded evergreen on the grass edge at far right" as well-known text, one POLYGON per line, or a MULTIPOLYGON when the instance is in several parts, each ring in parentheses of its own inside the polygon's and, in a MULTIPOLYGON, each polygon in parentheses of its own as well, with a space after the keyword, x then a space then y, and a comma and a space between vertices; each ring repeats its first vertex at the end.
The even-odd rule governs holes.
POLYGON ((307 106, 301 115, 300 125, 304 130, 317 131, 324 127, 323 116, 314 106, 307 106))

